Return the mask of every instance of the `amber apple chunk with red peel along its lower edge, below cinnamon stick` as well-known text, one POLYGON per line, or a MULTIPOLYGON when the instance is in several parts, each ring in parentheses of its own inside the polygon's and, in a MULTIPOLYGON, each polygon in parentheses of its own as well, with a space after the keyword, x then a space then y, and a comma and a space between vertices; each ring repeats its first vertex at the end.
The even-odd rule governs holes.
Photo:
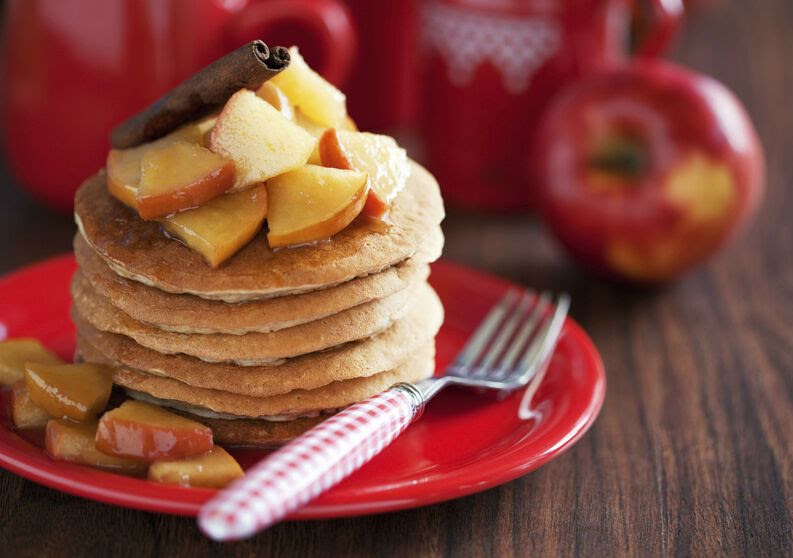
POLYGON ((137 205, 150 220, 198 207, 234 185, 234 163, 195 143, 149 149, 141 159, 137 205))

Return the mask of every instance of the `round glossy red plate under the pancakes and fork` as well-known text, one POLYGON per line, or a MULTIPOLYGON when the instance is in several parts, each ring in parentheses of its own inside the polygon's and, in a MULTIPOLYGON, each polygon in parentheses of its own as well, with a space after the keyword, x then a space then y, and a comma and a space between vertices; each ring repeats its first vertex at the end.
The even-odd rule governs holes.
MULTIPOLYGON (((69 319, 68 284, 74 269, 74 258, 62 256, 0 280, 0 339, 37 337, 69 359, 74 350, 74 327, 69 319)), ((441 370, 511 284, 446 262, 433 266, 430 282, 446 307, 446 323, 437 339, 441 370)), ((382 454, 292 517, 340 517, 412 508, 515 479, 553 459, 587 431, 603 403, 605 387, 600 356, 579 326, 567 320, 534 398, 534 416, 520 417, 525 407, 522 393, 498 400, 449 389, 382 454)), ((243 466, 263 455, 251 450, 236 453, 243 466)), ((0 424, 0 465, 70 494, 155 512, 195 515, 214 493, 53 461, 15 434, 7 422, 0 424)))

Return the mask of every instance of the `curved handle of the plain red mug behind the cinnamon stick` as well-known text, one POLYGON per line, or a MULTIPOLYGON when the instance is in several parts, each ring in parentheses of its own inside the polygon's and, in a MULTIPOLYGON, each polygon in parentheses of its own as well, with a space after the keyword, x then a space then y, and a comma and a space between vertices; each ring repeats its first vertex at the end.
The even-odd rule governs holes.
POLYGON ((355 62, 357 34, 352 16, 338 0, 255 0, 234 16, 228 31, 240 44, 266 37, 267 28, 285 21, 299 21, 315 33, 325 54, 320 73, 343 84, 355 62))

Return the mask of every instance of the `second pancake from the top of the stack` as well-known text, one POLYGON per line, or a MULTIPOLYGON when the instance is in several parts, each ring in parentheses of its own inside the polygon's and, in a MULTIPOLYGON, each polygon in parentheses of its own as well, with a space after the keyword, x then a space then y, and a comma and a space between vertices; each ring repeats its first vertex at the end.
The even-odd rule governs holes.
POLYGON ((380 273, 308 293, 229 304, 166 293, 113 273, 81 235, 74 252, 96 292, 139 322, 176 333, 267 333, 311 322, 395 294, 425 281, 429 267, 413 259, 380 273))

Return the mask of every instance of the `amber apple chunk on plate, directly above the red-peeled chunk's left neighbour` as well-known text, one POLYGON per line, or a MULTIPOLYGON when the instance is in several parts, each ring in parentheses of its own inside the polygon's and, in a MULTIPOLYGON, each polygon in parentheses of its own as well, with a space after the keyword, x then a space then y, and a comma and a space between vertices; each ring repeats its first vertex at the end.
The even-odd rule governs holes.
POLYGON ((30 399, 54 418, 93 419, 105 410, 113 369, 101 364, 25 364, 30 399))

